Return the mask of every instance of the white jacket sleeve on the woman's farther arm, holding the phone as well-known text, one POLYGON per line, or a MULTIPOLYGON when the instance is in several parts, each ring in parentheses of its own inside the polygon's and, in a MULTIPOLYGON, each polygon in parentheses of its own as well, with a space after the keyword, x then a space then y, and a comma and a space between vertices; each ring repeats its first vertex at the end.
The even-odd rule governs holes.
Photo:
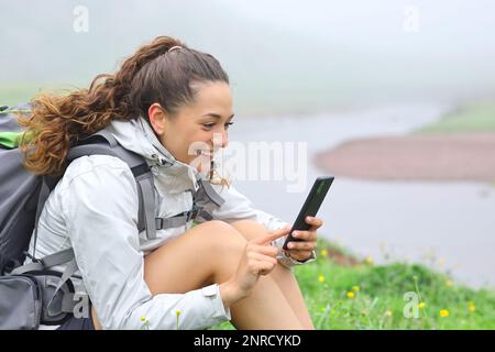
MULTIPOLYGON (((229 187, 212 185, 212 187, 226 200, 220 208, 211 210, 215 219, 223 220, 226 222, 250 219, 263 224, 271 232, 288 224, 263 210, 256 209, 251 200, 232 187, 232 185, 229 187)), ((305 262, 292 258, 282 250, 284 242, 285 237, 272 242, 272 245, 278 249, 277 260, 282 265, 290 268, 295 265, 307 264, 316 260, 315 251, 312 251, 311 256, 305 262)))

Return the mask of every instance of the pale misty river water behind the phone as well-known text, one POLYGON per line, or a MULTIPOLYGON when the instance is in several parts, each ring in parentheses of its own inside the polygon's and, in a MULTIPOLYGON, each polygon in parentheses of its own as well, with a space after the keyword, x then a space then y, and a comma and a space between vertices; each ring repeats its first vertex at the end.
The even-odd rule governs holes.
MULTIPOLYGON (((402 135, 440 119, 447 105, 410 103, 307 117, 235 118, 230 142, 306 142, 304 191, 290 179, 234 180, 260 209, 294 221, 315 177, 315 153, 359 138, 402 135)), ((249 164, 248 164, 249 165, 249 164)), ((248 167, 249 168, 249 167, 248 167)), ((454 282, 495 287, 495 187, 482 183, 336 178, 318 217, 319 234, 375 263, 424 263, 454 282)))

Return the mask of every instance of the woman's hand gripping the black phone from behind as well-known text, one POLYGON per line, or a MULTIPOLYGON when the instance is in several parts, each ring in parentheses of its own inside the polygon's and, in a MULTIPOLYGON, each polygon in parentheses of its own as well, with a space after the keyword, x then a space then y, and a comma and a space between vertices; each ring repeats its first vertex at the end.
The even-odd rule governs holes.
POLYGON ((311 228, 307 231, 294 231, 293 237, 301 241, 292 241, 288 243, 288 250, 285 252, 299 262, 305 262, 311 257, 312 251, 317 248, 317 230, 323 226, 323 221, 318 218, 307 217, 306 223, 311 228))

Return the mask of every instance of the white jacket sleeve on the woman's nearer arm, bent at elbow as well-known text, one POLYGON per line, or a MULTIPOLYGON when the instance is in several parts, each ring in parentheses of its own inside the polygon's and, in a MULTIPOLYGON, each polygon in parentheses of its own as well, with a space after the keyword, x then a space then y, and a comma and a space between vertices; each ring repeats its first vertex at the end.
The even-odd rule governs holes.
POLYGON ((73 173, 64 189, 63 217, 103 329, 143 329, 142 317, 146 328, 172 330, 177 321, 178 329, 206 329, 230 320, 218 285, 152 296, 136 227, 138 190, 127 164, 92 155, 74 161, 73 166, 84 172, 73 173))

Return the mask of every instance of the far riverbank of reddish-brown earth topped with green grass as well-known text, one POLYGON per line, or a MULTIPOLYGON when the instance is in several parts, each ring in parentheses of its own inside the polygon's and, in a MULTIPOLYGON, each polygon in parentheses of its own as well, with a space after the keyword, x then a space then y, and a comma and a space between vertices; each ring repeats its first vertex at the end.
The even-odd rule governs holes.
POLYGON ((458 107, 409 134, 346 141, 315 163, 353 178, 495 183, 495 102, 458 107))

